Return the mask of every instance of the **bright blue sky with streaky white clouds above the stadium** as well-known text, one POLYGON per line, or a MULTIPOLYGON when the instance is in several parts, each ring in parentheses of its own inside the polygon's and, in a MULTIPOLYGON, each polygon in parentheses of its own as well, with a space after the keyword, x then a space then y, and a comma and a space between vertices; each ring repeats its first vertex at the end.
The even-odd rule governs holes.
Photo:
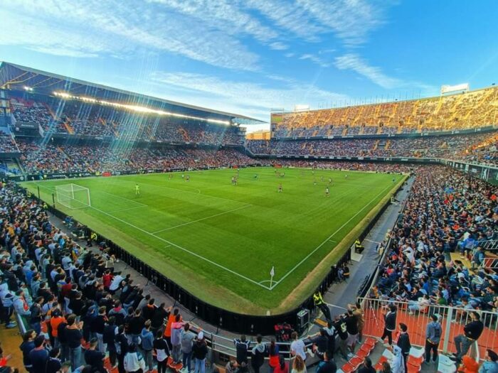
POLYGON ((4 1, 0 60, 268 121, 491 85, 497 18, 484 0, 4 1))

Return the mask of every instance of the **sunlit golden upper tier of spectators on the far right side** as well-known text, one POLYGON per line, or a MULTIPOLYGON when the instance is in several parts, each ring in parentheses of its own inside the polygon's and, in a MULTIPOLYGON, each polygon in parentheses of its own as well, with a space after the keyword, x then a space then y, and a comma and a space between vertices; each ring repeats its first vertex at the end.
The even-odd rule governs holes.
POLYGON ((497 99, 497 87, 489 87, 427 99, 284 113, 275 124, 275 136, 410 134, 478 128, 495 124, 497 99))

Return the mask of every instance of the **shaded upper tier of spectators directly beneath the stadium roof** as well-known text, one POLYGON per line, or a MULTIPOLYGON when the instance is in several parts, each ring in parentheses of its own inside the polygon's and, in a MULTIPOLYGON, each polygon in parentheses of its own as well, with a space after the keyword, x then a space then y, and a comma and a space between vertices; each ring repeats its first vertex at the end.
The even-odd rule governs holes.
POLYGON ((17 121, 40 124, 51 133, 217 146, 244 142, 238 126, 129 112, 78 100, 49 97, 45 102, 11 97, 10 107, 17 121))

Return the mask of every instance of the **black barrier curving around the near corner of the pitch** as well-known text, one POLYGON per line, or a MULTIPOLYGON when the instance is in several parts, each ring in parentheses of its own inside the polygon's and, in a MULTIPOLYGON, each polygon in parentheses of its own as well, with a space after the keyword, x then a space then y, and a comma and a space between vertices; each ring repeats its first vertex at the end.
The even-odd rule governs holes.
MULTIPOLYGON (((402 187, 403 185, 399 185, 396 193, 402 187)), ((27 193, 26 189, 21 187, 18 188, 23 190, 24 193, 27 193)), ((34 198, 35 200, 38 200, 38 202, 43 203, 43 201, 39 200, 35 195, 31 195, 31 198, 34 198)), ((376 213, 375 217, 371 219, 369 224, 366 225, 361 234, 359 234, 359 238, 361 240, 366 237, 366 234, 369 233, 370 229, 373 227, 373 225, 375 225, 379 217, 381 217, 383 212, 386 211, 388 205, 389 202, 386 201, 386 203, 384 203, 381 209, 376 213)), ((48 210, 60 220, 64 220, 68 216, 64 212, 57 210, 53 206, 49 206, 48 210)), ((92 231, 88 227, 85 227, 85 236, 89 237, 91 232, 92 231)), ((275 333, 275 324, 289 323, 290 325, 295 325, 297 313, 300 310, 304 308, 312 310, 314 308, 312 294, 310 294, 309 297, 300 304, 300 306, 298 306, 294 310, 290 310, 289 312, 282 313, 280 315, 244 315, 224 310, 222 308, 212 306, 211 304, 202 301, 201 299, 192 295, 177 283, 167 278, 164 274, 159 273, 151 266, 138 259, 136 256, 130 254, 125 249, 112 242, 110 239, 107 239, 102 234, 97 233, 97 240, 98 242, 105 242, 107 247, 110 248, 110 253, 115 254, 115 256, 119 258, 120 261, 126 263, 127 266, 130 266, 132 269, 139 272, 139 274, 142 274, 142 276, 144 276, 144 278, 146 278, 148 281, 153 282, 158 288, 164 291, 164 293, 171 296, 171 298, 174 298, 177 303, 180 303, 181 306, 184 306, 184 308, 187 308, 192 313, 194 313, 196 317, 206 321, 211 325, 231 331, 233 333, 244 333, 248 335, 270 335, 275 333)), ((349 248, 341 257, 341 259, 339 259, 339 261, 337 261, 337 263, 331 267, 322 282, 319 283, 319 286, 317 286, 317 289, 322 291, 322 293, 327 291, 329 287, 337 281, 337 271, 339 266, 344 263, 348 263, 349 261, 351 261, 351 248, 349 248)))

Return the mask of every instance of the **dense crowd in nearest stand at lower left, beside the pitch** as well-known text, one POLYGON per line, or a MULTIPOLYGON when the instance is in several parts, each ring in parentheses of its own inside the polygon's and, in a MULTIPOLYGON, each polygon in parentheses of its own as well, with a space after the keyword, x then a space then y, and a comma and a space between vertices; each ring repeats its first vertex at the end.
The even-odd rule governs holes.
POLYGON ((186 372, 204 372, 203 333, 115 271, 105 244, 96 253, 90 236, 80 246, 78 224, 68 219, 72 233, 61 232, 14 184, 0 198, 1 322, 15 328, 17 314, 27 326, 19 348, 28 372, 163 373, 182 360, 186 372))

